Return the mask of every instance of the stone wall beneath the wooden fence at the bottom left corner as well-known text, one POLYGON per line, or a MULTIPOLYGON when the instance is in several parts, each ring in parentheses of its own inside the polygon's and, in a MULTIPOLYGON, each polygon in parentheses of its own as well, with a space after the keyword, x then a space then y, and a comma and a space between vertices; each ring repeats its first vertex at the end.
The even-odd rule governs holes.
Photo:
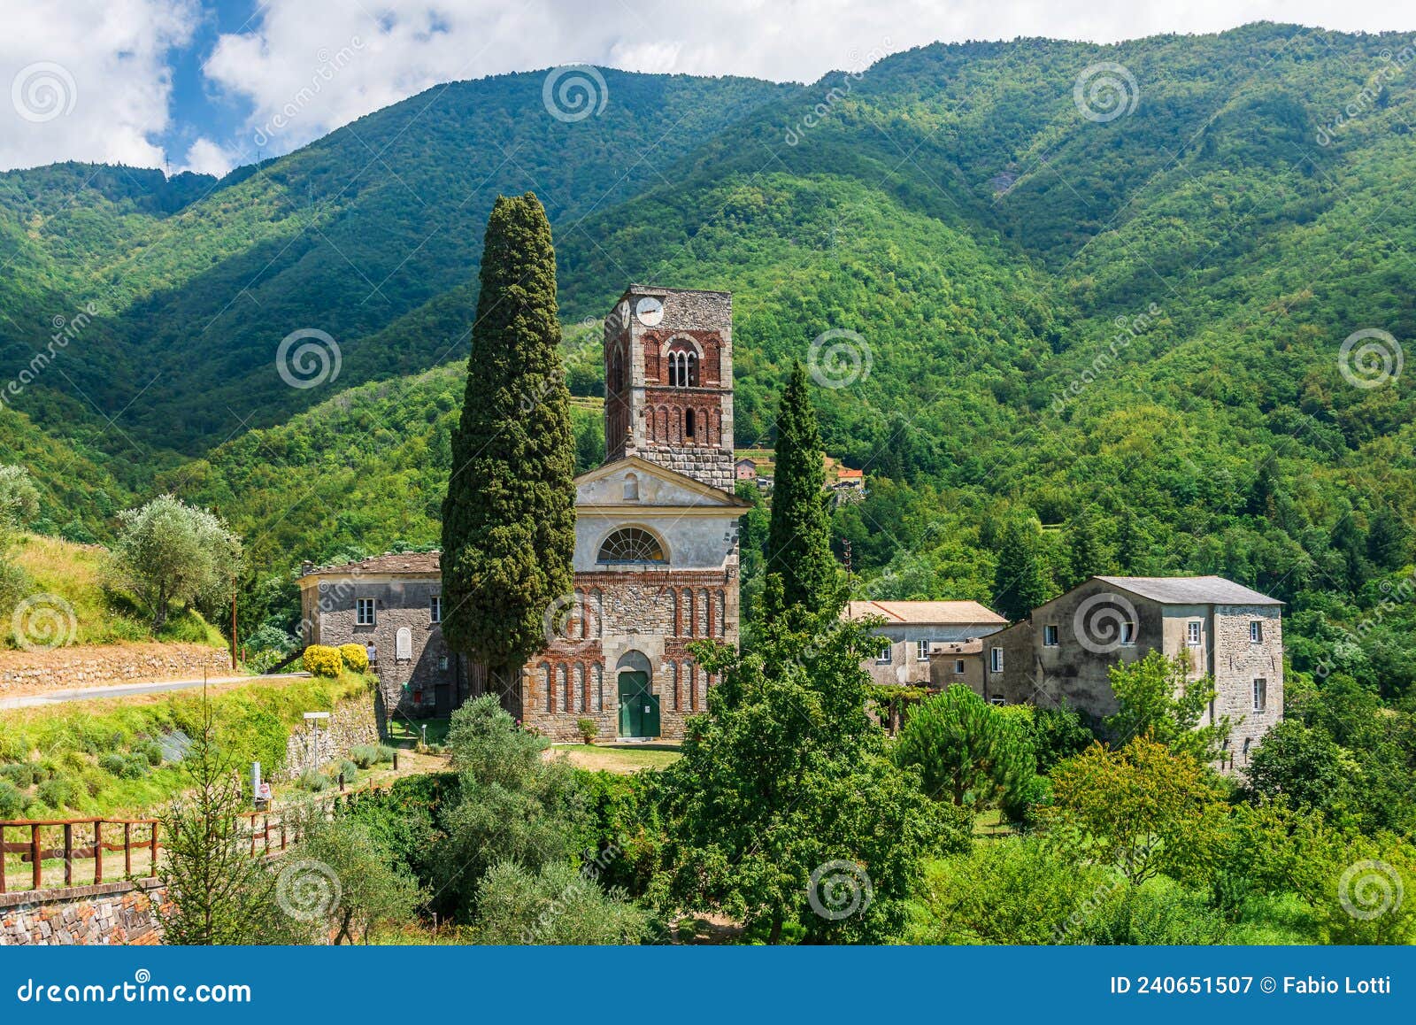
POLYGON ((0 947, 153 946, 161 943, 153 915, 161 895, 156 879, 0 893, 0 947))

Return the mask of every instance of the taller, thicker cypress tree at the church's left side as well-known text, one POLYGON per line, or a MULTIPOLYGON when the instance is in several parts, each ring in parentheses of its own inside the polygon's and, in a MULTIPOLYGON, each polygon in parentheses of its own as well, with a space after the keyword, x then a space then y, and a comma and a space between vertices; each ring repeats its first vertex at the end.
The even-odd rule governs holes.
POLYGON ((551 225, 498 197, 481 252, 467 392, 443 500, 443 636, 511 687, 572 586, 575 439, 561 367, 551 225))

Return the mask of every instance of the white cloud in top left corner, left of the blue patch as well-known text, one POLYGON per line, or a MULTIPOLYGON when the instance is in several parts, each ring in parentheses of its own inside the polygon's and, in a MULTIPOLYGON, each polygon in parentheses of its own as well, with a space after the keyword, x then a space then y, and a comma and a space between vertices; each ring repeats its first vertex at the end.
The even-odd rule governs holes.
POLYGON ((0 167, 161 164, 167 54, 190 38, 194 0, 10 1, 3 17, 0 167))

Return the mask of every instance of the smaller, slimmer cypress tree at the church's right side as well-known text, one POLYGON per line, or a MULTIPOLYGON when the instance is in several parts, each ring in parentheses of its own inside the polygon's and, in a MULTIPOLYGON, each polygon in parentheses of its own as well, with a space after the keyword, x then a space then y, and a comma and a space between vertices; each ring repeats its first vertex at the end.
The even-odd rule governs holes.
POLYGON ((844 589, 840 566, 831 554, 821 432, 800 362, 793 367, 782 394, 775 462, 767 573, 782 578, 784 607, 834 613, 844 589))

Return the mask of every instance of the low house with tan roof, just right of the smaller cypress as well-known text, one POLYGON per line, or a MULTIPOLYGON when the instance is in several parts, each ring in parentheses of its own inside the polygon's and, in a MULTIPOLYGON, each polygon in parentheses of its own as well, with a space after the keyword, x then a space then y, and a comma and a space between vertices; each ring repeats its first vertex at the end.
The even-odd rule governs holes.
MULTIPOLYGON (((877 684, 916 687, 937 687, 933 682, 937 646, 964 644, 1008 626, 1008 620, 978 602, 851 602, 843 614, 852 620, 884 617, 885 623, 875 629, 879 650, 864 665, 877 684)), ((950 675, 944 670, 952 670, 960 657, 967 665, 969 658, 963 653, 939 657, 947 663, 940 667, 944 680, 950 675)))

